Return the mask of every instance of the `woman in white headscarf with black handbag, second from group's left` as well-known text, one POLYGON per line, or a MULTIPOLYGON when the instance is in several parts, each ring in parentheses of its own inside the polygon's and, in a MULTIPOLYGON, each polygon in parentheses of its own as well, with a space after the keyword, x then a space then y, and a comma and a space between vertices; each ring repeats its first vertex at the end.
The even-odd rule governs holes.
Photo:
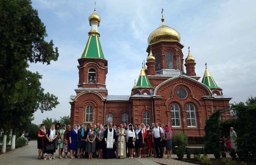
POLYGON ((51 126, 51 129, 49 129, 46 132, 45 135, 46 135, 45 146, 53 144, 54 150, 51 150, 51 151, 45 151, 44 150, 44 153, 45 153, 44 160, 46 160, 47 157, 48 157, 49 160, 51 160, 52 159, 51 157, 53 156, 53 153, 56 151, 56 149, 55 149, 56 148, 55 140, 57 138, 57 131, 55 130, 55 125, 54 124, 51 126))

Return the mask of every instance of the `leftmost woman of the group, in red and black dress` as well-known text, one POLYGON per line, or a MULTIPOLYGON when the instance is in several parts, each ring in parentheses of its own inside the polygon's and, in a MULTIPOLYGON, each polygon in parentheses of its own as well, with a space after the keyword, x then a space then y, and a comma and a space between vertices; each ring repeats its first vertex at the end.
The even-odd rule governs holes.
POLYGON ((37 132, 37 148, 38 148, 38 159, 44 159, 44 142, 45 142, 45 133, 44 124, 41 124, 41 129, 37 132), (42 155, 41 155, 42 153, 42 155))

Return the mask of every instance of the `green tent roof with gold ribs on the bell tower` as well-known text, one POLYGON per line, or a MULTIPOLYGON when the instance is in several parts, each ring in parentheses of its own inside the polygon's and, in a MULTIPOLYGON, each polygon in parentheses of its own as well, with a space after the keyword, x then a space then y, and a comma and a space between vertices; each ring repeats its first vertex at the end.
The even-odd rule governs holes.
POLYGON ((90 34, 81 58, 105 59, 102 48, 101 48, 100 39, 97 34, 90 34))

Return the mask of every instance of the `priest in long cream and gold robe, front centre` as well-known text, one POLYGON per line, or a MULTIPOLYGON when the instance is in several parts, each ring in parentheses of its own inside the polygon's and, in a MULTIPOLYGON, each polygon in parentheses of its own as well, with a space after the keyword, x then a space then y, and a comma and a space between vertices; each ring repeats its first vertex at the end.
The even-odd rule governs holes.
POLYGON ((117 146, 116 146, 116 158, 126 158, 126 130, 123 128, 123 124, 120 124, 120 128, 116 131, 117 146))

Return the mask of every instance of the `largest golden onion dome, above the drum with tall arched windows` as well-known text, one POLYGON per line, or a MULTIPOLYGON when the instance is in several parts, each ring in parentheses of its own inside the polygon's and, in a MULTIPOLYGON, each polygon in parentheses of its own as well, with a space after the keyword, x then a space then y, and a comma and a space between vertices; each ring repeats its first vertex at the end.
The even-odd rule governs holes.
POLYGON ((162 25, 149 34, 148 45, 159 41, 178 41, 180 42, 179 32, 164 25, 164 17, 161 18, 162 25))

